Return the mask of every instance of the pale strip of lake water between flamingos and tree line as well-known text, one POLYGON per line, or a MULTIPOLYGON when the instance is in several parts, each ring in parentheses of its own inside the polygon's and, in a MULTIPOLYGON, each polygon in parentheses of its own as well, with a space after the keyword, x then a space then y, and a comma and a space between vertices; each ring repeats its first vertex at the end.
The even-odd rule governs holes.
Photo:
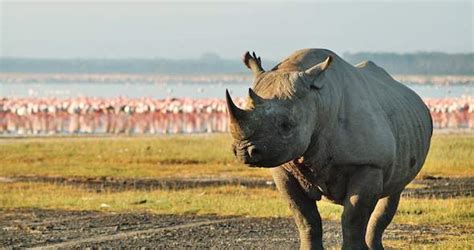
MULTIPOLYGON (((224 98, 229 89, 233 96, 247 94, 249 84, 243 83, 0 83, 0 97, 152 97, 224 98)), ((407 85, 422 98, 452 98, 474 95, 474 85, 407 85)))

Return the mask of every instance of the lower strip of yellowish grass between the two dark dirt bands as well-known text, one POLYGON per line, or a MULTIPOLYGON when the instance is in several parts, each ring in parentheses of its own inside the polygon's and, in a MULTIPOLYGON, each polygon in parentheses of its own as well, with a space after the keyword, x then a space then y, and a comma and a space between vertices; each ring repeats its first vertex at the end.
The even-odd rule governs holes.
MULTIPOLYGON (((223 186, 186 190, 96 193, 85 189, 44 183, 1 183, 0 208, 149 211, 160 214, 217 214, 252 217, 290 216, 277 191, 265 188, 223 186), (145 204, 135 205, 146 200, 145 204)), ((474 228, 474 198, 402 199, 395 223, 455 224, 474 228)), ((324 219, 339 220, 342 207, 318 202, 324 219)))

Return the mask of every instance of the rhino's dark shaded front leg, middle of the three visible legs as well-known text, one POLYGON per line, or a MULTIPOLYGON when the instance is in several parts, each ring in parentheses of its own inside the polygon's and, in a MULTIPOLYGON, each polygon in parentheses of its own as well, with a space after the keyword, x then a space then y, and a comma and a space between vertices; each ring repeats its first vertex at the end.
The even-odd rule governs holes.
POLYGON ((342 213, 343 249, 368 249, 365 234, 383 188, 382 170, 357 167, 349 177, 342 213))

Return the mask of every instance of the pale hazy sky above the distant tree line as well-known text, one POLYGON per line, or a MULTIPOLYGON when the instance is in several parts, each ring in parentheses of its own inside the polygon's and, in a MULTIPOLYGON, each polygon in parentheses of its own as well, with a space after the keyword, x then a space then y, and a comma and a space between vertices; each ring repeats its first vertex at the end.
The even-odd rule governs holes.
POLYGON ((306 47, 339 53, 473 52, 472 1, 5 2, 0 56, 280 59, 306 47))

